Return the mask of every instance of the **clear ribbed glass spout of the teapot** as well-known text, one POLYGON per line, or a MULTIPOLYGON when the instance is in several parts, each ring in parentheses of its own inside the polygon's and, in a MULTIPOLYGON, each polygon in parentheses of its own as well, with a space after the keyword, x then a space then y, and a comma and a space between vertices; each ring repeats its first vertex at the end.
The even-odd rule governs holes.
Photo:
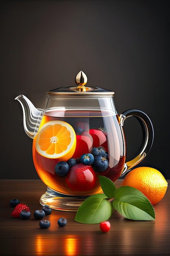
POLYGON ((22 106, 23 125, 26 134, 33 139, 38 132, 44 110, 35 108, 33 103, 23 94, 15 98, 22 106))

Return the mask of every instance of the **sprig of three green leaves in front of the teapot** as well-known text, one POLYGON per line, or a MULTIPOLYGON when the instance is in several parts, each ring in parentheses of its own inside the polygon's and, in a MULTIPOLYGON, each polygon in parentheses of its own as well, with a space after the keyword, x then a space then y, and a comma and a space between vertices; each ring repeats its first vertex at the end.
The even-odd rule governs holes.
POLYGON ((155 210, 141 191, 130 186, 120 186, 107 177, 99 175, 103 193, 90 195, 80 205, 75 221, 83 224, 97 224, 108 220, 113 209, 130 220, 155 220, 155 210))

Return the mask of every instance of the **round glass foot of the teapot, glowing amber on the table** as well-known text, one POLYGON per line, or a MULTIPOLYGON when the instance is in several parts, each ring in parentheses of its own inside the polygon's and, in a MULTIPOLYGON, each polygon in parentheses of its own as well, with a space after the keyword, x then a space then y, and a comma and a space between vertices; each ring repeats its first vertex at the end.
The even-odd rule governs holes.
POLYGON ((77 211, 86 198, 88 196, 64 195, 47 187, 46 192, 40 197, 40 204, 60 211, 77 211))

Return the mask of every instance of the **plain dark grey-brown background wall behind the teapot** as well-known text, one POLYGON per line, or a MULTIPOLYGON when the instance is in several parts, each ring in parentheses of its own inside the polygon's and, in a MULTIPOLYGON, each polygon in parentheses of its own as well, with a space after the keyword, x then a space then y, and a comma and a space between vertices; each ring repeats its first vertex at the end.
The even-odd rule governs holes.
MULTIPOLYGON (((170 179, 169 10, 164 0, 0 1, 0 178, 39 178, 14 98, 40 108, 48 90, 75 85, 83 70, 88 85, 115 91, 118 114, 137 108, 150 117, 155 139, 138 166, 170 179)), ((124 129, 130 156, 138 127, 127 119, 124 129)))

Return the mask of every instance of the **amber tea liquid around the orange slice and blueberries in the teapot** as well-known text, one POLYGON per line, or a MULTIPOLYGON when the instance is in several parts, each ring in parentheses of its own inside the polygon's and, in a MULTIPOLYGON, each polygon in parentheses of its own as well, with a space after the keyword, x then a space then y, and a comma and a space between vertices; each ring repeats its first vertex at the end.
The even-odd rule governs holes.
POLYGON ((70 124, 76 133, 76 148, 73 158, 77 159, 84 153, 91 153, 93 147, 102 146, 108 153, 109 167, 102 173, 97 173, 97 181, 93 189, 88 191, 73 191, 66 185, 66 176, 59 177, 55 173, 55 166, 60 158, 52 159, 40 155, 36 148, 36 138, 33 139, 33 162, 35 169, 46 186, 66 195, 92 195, 102 193, 99 175, 108 177, 113 182, 119 178, 124 169, 126 155, 126 141, 117 115, 107 112, 47 112, 40 124, 40 128, 48 121, 61 120, 70 124), (76 117, 75 117, 76 116, 76 117))

